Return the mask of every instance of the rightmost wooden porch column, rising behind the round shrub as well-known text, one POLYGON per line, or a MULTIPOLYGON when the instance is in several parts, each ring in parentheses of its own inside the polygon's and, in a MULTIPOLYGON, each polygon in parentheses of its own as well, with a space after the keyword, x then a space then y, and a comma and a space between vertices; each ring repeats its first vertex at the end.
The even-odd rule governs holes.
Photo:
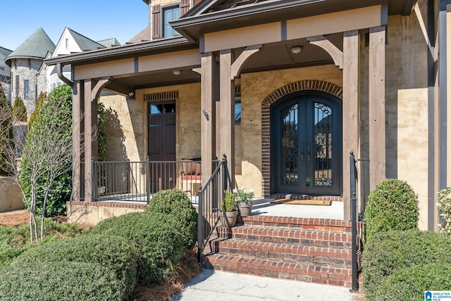
POLYGON ((385 179, 385 26, 369 30, 369 181, 385 179))

